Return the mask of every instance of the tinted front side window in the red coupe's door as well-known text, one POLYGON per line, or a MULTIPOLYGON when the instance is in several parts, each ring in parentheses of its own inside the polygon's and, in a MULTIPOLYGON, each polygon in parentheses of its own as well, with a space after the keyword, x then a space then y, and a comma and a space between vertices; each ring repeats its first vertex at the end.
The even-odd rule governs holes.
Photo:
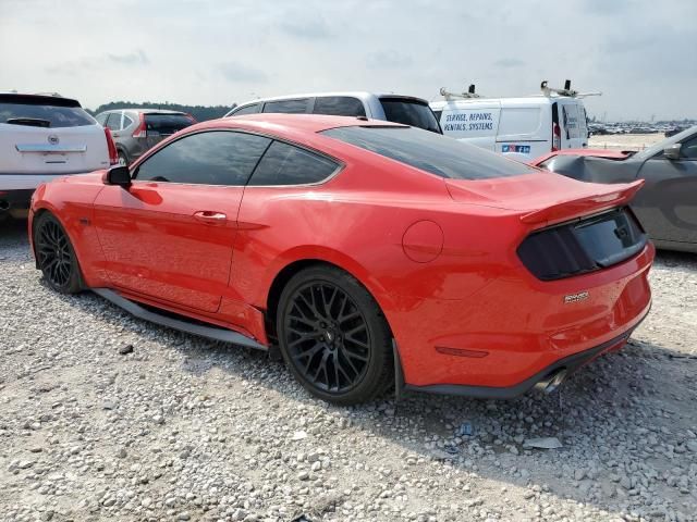
POLYGON ((145 160, 135 178, 192 185, 243 186, 271 140, 212 130, 185 136, 145 160))

